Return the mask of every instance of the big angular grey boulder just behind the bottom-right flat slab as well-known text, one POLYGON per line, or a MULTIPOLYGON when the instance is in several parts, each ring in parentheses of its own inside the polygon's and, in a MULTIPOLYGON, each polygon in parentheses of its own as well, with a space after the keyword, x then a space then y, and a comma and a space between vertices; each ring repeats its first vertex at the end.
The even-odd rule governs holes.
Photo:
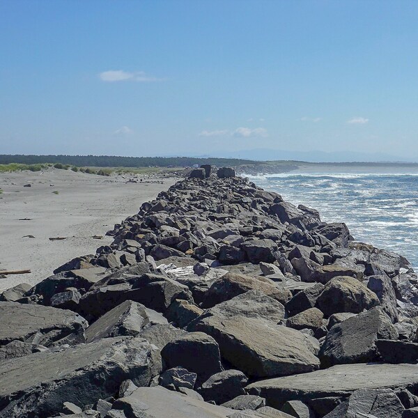
POLYGON ((372 362, 377 358, 377 339, 398 339, 398 332, 380 307, 334 325, 320 348, 321 364, 372 362))

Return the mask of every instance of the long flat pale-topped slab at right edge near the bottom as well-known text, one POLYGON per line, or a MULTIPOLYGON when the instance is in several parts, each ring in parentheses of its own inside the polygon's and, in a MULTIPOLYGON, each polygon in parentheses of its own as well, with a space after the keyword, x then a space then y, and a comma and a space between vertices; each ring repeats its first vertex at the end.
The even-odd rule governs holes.
POLYGON ((284 378, 261 380, 247 386, 250 394, 281 408, 286 401, 309 404, 316 398, 350 396, 357 389, 418 389, 418 364, 341 364, 330 369, 284 378))

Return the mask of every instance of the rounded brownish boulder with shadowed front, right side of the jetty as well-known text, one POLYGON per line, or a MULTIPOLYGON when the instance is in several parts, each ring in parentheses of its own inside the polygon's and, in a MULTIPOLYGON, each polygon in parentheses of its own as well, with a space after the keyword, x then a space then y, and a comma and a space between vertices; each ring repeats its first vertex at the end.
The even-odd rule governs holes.
POLYGON ((316 307, 325 316, 337 312, 359 314, 379 304, 376 293, 370 291, 361 281, 353 277, 334 277, 326 285, 316 300, 316 307))

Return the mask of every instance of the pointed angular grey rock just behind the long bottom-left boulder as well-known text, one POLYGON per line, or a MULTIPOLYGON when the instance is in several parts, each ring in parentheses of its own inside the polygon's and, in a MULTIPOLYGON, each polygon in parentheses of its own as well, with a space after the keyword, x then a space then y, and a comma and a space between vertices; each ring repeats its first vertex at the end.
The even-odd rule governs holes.
POLYGON ((86 329, 86 343, 113 336, 136 336, 149 323, 144 305, 125 300, 86 329))

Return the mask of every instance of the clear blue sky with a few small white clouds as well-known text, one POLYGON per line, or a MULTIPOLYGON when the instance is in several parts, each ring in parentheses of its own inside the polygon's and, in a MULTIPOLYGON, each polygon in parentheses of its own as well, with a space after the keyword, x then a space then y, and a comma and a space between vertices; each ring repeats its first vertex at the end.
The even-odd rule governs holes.
POLYGON ((0 153, 418 161, 418 1, 0 0, 0 153))

